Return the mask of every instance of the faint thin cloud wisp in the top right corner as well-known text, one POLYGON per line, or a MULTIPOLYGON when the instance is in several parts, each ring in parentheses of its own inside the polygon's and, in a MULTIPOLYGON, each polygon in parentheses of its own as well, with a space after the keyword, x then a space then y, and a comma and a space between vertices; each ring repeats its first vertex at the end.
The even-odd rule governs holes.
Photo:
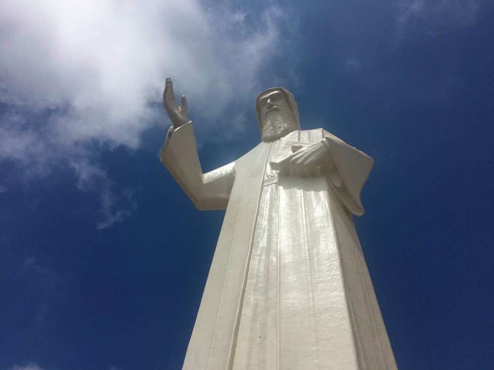
POLYGON ((400 0, 397 3, 396 26, 403 38, 426 35, 434 37, 449 29, 473 24, 480 0, 400 0))

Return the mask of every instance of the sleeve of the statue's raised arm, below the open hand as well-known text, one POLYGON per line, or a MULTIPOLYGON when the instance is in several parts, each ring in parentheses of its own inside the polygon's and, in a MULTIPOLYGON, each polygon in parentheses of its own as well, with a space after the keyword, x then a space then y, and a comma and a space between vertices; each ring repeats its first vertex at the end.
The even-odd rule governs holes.
POLYGON ((168 132, 160 160, 198 210, 226 208, 235 180, 235 162, 203 174, 192 122, 168 132))

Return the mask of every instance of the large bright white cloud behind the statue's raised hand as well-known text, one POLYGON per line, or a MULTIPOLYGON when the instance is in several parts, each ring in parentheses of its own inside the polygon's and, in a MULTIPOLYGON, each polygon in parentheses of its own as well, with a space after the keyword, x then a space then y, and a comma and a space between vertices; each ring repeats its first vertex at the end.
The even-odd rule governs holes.
MULTIPOLYGON (((158 107, 168 75, 195 118, 250 103, 262 68, 280 52, 284 14, 269 6, 247 17, 196 0, 0 2, 0 103, 8 107, 0 160, 35 176, 70 163, 80 182, 100 181, 104 171, 87 143, 138 148, 144 130, 165 122, 158 107)), ((101 189, 103 211, 121 197, 132 203, 101 189)), ((128 214, 108 212, 109 224, 128 214)))

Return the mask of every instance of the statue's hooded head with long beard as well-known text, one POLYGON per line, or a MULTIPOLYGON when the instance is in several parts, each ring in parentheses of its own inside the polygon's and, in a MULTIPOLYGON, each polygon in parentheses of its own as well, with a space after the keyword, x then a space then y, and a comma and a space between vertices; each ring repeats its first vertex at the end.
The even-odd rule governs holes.
POLYGON ((255 112, 262 141, 273 141, 300 130, 297 102, 288 90, 263 91, 255 100, 255 112))

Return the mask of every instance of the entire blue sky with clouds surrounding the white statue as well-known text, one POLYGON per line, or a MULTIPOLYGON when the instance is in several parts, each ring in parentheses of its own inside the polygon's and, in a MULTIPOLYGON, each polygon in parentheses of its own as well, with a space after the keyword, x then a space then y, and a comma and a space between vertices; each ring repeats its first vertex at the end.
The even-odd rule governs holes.
POLYGON ((399 368, 492 368, 492 4, 68 4, 0 4, 0 369, 180 368, 224 214, 159 162, 168 75, 204 171, 279 85, 371 155, 356 226, 399 368))

